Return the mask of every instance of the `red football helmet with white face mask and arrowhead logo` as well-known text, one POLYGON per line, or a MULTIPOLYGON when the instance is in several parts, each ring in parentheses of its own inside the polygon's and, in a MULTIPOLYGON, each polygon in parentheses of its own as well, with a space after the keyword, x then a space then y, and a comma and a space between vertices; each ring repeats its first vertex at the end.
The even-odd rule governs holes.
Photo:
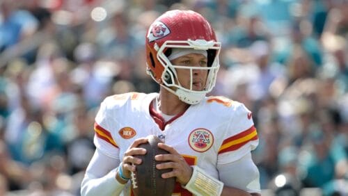
POLYGON ((216 82, 219 70, 221 43, 216 42, 215 32, 209 22, 191 10, 171 10, 153 22, 146 36, 147 72, 157 83, 173 92, 187 104, 198 104, 216 82), (171 48, 207 51, 207 67, 182 67, 172 65, 166 56, 171 48), (205 89, 202 91, 184 88, 177 82, 176 69, 208 70, 205 89), (170 88, 175 87, 175 88, 170 88))

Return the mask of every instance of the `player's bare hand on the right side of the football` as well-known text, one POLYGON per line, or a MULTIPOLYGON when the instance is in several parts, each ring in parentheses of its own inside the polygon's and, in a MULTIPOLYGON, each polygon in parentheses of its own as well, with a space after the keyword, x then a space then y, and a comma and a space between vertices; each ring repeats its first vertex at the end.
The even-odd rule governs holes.
POLYGON ((156 165, 159 170, 173 169, 171 172, 162 174, 164 179, 170 177, 176 177, 177 181, 182 185, 186 185, 191 179, 193 169, 173 147, 164 143, 159 143, 158 147, 165 149, 170 154, 159 154, 155 156, 156 161, 168 161, 166 163, 160 163, 156 165))

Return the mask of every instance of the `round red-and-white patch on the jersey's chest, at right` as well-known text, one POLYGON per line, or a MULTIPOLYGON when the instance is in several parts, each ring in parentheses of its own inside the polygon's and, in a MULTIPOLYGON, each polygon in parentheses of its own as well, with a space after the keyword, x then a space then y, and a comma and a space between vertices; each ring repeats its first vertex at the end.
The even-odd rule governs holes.
POLYGON ((196 152, 206 152, 213 143, 214 136, 207 129, 195 129, 189 135, 189 145, 196 152))

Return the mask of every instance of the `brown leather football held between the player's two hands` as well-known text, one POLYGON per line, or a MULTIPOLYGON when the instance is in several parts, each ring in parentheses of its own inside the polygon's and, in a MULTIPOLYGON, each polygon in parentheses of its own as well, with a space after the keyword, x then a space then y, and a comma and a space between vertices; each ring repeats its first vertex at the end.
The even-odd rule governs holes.
POLYGON ((139 147, 146 149, 146 154, 137 155, 141 158, 140 165, 136 165, 136 171, 132 172, 132 192, 134 195, 147 196, 166 196, 172 195, 175 188, 175 177, 164 179, 161 174, 171 172, 171 169, 157 170, 156 165, 161 161, 156 161, 157 154, 168 154, 166 150, 157 147, 161 142, 157 136, 148 136, 148 143, 141 144, 139 147))

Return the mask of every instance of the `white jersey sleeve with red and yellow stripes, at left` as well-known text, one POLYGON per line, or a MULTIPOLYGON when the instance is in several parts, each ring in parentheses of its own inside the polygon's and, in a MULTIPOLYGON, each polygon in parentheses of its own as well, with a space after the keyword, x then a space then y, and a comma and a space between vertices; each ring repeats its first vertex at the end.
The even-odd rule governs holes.
POLYGON ((111 127, 113 127, 113 123, 116 122, 113 121, 111 117, 109 117, 107 100, 108 98, 104 99, 95 117, 95 136, 93 142, 95 144, 95 147, 97 147, 97 149, 99 149, 103 154, 106 154, 111 158, 118 158, 118 144, 113 139, 113 136, 111 134, 111 127))

